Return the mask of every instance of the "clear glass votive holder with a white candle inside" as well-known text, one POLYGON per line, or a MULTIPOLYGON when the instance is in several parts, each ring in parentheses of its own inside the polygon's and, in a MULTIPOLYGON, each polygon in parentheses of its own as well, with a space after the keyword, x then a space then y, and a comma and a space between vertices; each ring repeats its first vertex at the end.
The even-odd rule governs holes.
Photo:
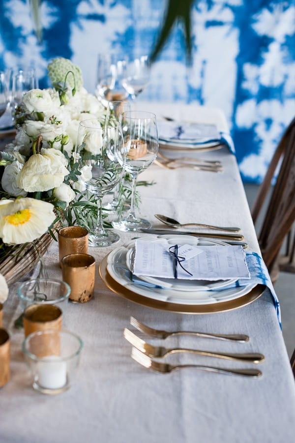
POLYGON ((59 394, 73 384, 83 342, 78 335, 62 330, 38 331, 23 342, 23 352, 32 386, 43 394, 59 394), (58 345, 55 348, 50 344, 58 345))

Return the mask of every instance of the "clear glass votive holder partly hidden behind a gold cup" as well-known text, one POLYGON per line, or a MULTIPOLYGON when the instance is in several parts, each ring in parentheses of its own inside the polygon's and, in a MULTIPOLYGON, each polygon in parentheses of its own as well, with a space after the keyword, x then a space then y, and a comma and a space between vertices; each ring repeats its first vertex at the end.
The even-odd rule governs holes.
POLYGON ((54 304, 63 314, 66 311, 71 292, 69 285, 55 279, 37 278, 20 284, 17 293, 20 297, 22 311, 31 304, 54 304))

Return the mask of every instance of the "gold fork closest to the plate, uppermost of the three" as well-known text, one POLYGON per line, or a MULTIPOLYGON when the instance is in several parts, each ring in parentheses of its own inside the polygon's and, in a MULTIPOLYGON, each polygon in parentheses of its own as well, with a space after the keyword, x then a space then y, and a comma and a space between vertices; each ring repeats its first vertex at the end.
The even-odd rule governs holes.
POLYGON ((208 332, 197 332, 197 331, 165 331, 162 329, 154 329, 150 326, 144 325, 143 323, 136 320, 134 317, 130 317, 130 325, 136 327, 141 332, 154 338, 167 338, 171 335, 197 335, 198 337, 215 338, 217 340, 232 340, 239 343, 244 343, 249 341, 249 336, 245 334, 213 334, 208 332))

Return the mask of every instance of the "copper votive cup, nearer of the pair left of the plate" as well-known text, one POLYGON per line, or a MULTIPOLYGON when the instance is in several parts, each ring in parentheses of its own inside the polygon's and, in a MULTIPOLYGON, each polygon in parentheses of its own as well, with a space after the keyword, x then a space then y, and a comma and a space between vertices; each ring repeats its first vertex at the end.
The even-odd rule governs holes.
POLYGON ((70 254, 61 260, 62 279, 71 288, 69 300, 85 303, 94 295, 95 259, 89 254, 70 254))

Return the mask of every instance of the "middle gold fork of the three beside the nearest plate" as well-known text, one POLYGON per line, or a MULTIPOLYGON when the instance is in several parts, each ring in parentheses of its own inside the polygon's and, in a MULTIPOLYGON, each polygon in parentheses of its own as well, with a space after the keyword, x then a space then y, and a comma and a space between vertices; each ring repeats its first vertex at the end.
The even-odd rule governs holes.
POLYGON ((164 348, 164 346, 152 346, 146 343, 141 338, 139 338, 137 335, 135 335, 126 327, 124 329, 124 337, 129 343, 131 343, 132 346, 137 348, 142 353, 147 354, 151 358, 162 358, 169 354, 185 352, 189 354, 199 354, 199 355, 207 355, 210 357, 225 358, 227 360, 248 361, 251 363, 261 363, 265 359, 263 354, 257 354, 257 353, 225 354, 213 351, 202 351, 200 349, 164 348))

